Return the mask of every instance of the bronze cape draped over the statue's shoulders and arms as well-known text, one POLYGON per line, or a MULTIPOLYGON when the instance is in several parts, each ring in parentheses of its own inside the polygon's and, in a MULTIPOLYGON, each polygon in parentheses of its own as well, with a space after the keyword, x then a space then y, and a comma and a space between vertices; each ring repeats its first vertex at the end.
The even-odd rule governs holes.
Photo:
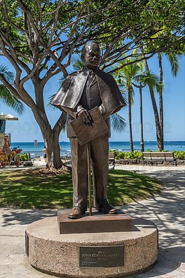
MULTIPOLYGON (((83 67, 81 70, 70 74, 58 90, 51 104, 59 109, 64 106, 75 111, 82 96, 89 71, 87 67, 83 67)), ((96 71, 96 75, 105 113, 109 115, 116 113, 126 105, 116 81, 112 75, 100 69, 96 71)))

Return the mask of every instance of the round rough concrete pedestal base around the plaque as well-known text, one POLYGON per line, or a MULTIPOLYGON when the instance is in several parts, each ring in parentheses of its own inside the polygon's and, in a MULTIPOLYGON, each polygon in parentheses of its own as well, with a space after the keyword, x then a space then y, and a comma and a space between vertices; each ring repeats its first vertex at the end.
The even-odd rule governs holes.
POLYGON ((154 223, 133 219, 133 231, 60 235, 57 217, 30 224, 26 230, 29 263, 38 270, 65 277, 122 277, 157 260, 158 233, 154 223), (124 266, 80 268, 79 247, 124 245, 124 266))

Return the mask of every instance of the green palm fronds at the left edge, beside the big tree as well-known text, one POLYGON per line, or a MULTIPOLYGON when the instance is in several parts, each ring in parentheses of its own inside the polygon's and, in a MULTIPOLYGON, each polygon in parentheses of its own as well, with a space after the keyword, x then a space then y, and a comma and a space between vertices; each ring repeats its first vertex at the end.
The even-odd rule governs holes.
MULTIPOLYGON (((9 71, 9 68, 5 65, 0 65, 0 73, 3 77, 9 82, 14 82, 14 74, 13 72, 9 71)), ((9 107, 13 108, 19 115, 21 115, 24 111, 23 103, 15 98, 10 90, 0 82, 0 99, 3 103, 8 105, 9 107)))

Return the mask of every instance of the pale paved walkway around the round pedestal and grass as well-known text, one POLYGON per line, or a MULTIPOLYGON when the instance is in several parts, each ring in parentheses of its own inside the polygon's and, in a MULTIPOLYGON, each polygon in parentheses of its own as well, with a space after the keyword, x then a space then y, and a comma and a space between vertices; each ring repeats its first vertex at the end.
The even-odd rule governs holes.
MULTIPOLYGON (((147 272, 129 277, 184 277, 184 168, 138 165, 116 165, 116 168, 150 175, 162 180, 164 184, 160 196, 122 208, 133 217, 153 221, 159 228, 158 261, 147 272)), ((1 209, 1 278, 54 277, 32 268, 24 253, 24 232, 27 225, 51 216, 56 216, 55 210, 1 209)))

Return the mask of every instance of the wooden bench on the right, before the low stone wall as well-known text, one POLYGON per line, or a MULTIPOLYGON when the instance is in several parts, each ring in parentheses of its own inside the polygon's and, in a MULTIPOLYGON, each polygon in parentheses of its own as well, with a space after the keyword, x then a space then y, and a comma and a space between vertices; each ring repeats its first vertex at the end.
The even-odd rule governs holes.
POLYGON ((177 166, 173 152, 143 152, 143 160, 146 161, 146 164, 152 161, 168 161, 173 162, 173 164, 175 162, 175 166, 177 166))

